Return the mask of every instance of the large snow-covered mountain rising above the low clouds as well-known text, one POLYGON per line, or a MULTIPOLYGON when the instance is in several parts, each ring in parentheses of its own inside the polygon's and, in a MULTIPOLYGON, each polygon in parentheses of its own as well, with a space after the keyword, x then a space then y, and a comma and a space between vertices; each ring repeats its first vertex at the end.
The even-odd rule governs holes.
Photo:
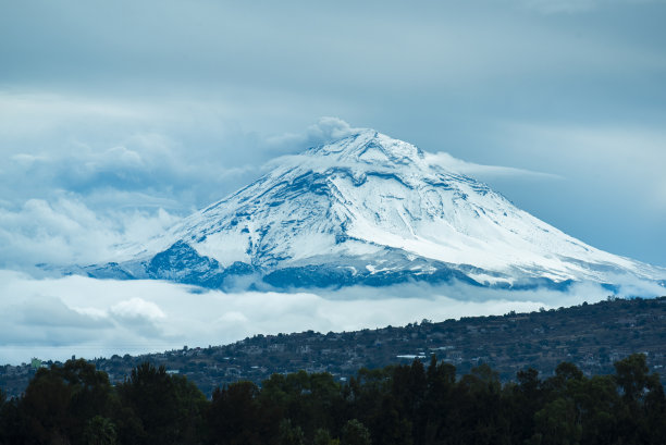
POLYGON ((280 158, 255 183, 83 268, 98 277, 207 287, 326 287, 405 281, 566 287, 658 281, 666 271, 595 249, 488 185, 371 129, 280 158))

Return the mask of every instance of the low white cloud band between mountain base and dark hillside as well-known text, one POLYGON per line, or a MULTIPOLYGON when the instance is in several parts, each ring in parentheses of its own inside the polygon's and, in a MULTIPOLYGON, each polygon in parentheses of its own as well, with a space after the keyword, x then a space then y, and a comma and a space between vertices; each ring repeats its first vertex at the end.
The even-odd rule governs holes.
MULTIPOLYGON (((628 295, 646 295, 644 284, 626 286, 628 295)), ((223 293, 160 281, 36 280, 0 270, 0 363, 30 356, 109 357, 227 344, 255 334, 353 331, 424 318, 533 311, 594 302, 607 295, 594 284, 579 284, 567 293, 424 284, 381 292, 356 286, 340 292, 223 293)))

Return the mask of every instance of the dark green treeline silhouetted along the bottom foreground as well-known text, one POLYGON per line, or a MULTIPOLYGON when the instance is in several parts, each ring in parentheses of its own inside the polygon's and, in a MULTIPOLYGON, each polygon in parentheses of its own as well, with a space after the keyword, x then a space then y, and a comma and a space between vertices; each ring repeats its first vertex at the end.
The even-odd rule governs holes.
POLYGON ((664 444, 666 398, 645 356, 587 378, 571 363, 502 385, 480 366, 361 369, 349 382, 304 371, 212 399, 144 363, 112 386, 85 360, 40 369, 21 397, 0 394, 0 444, 664 444))

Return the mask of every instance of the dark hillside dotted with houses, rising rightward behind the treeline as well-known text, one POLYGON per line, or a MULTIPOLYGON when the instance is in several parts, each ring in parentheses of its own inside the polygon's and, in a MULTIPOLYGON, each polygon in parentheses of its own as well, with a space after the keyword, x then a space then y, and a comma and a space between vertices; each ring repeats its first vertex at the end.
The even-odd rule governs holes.
MULTIPOLYGON (((645 354, 651 371, 665 381, 666 297, 608 299, 557 310, 442 322, 423 320, 356 332, 257 335, 224 346, 113 356, 97 359, 95 364, 115 382, 123 381, 140 362, 164 364, 210 395, 219 385, 238 380, 260 383, 272 373, 303 369, 330 372, 344 380, 361 367, 382 368, 415 358, 429 361, 433 354, 455 364, 459 373, 488 363, 508 381, 528 367, 552 375, 562 361, 576 363, 587 374, 613 373, 613 362, 633 353, 645 354)), ((29 364, 0 367, 0 387, 17 395, 33 374, 29 364)))

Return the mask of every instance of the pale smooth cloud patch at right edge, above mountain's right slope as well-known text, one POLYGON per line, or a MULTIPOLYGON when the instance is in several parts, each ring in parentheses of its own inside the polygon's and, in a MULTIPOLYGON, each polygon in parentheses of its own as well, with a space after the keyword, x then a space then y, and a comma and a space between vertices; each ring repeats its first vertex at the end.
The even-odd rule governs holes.
POLYGON ((568 172, 580 183, 604 184, 608 196, 625 196, 666 217, 663 129, 508 123, 502 134, 507 147, 531 153, 553 171, 568 172))

